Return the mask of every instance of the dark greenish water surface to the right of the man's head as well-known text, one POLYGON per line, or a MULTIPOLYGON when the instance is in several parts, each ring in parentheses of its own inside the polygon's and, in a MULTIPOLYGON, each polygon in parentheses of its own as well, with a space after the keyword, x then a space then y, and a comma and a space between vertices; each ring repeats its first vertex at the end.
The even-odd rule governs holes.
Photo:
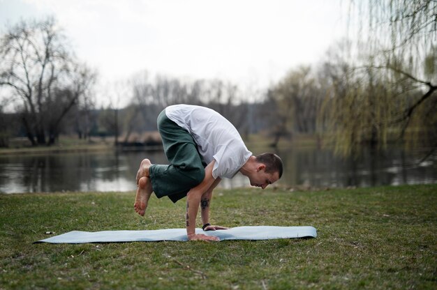
POLYGON ((288 185, 345 188, 437 182, 436 160, 419 164, 424 155, 420 152, 407 155, 394 148, 383 153, 366 150, 355 159, 314 148, 292 148, 279 154, 288 185))

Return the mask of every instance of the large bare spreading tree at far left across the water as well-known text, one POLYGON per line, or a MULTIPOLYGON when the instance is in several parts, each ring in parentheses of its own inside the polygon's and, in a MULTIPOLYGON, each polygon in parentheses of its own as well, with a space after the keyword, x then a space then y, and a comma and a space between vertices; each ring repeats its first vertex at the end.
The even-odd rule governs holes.
POLYGON ((53 18, 8 29, 0 59, 0 86, 12 89, 31 144, 52 144, 95 74, 75 61, 53 18))

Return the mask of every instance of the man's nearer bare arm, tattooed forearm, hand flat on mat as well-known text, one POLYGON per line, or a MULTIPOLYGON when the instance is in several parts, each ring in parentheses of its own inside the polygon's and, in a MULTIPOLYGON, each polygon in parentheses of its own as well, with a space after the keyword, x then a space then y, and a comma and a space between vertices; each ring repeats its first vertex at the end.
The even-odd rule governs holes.
POLYGON ((196 186, 191 188, 186 194, 186 234, 188 235, 188 240, 205 240, 205 241, 218 241, 215 236, 206 236, 203 234, 195 234, 195 217, 199 211, 200 200, 205 192, 208 192, 209 188, 216 182, 212 176, 212 169, 214 168, 215 160, 207 165, 205 168, 205 178, 203 181, 196 186))

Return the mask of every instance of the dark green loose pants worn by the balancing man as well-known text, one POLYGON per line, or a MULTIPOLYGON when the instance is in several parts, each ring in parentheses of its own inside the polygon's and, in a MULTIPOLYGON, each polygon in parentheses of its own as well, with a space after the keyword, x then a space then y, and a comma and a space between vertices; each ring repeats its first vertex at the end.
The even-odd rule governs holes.
POLYGON ((158 131, 170 165, 152 165, 151 185, 156 197, 168 196, 173 202, 186 197, 191 188, 205 178, 205 163, 198 146, 187 130, 168 119, 165 111, 158 116, 158 131))

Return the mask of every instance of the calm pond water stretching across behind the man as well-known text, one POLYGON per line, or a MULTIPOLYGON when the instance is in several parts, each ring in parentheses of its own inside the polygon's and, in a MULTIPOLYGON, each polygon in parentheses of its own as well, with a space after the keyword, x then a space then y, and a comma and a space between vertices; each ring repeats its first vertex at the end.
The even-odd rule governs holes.
MULTIPOLYGON (((371 155, 367 151, 357 160, 344 160, 316 148, 277 153, 284 162, 280 185, 345 188, 437 183, 437 160, 418 164, 420 153, 392 149, 371 155)), ((0 156, 0 192, 131 191, 136 189, 138 165, 146 157, 166 163, 161 151, 0 156)), ((249 181, 237 174, 232 180, 223 179, 219 186, 245 187, 249 181)))

